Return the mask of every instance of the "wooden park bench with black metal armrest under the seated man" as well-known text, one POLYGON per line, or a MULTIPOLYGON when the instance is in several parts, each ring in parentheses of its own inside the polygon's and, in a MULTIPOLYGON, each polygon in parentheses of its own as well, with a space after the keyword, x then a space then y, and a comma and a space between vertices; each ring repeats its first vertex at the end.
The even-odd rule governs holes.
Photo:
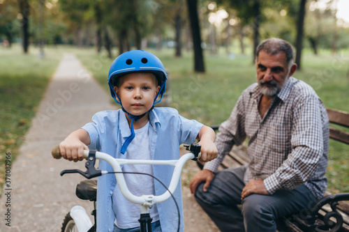
MULTIPOLYGON (((343 128, 349 128, 349 113, 327 109, 327 114, 330 122, 329 138, 349 144, 349 132, 346 132, 346 129, 332 127, 340 125, 343 128)), ((212 126, 212 128, 218 130, 218 126, 212 126)), ((233 146, 230 153, 225 155, 218 170, 248 164, 250 160, 246 155, 246 150, 245 145, 233 146)), ((202 169, 200 162, 198 166, 202 169)), ((279 219, 278 231, 349 231, 349 203, 347 201, 349 201, 349 193, 329 194, 327 192, 313 208, 279 219)))

